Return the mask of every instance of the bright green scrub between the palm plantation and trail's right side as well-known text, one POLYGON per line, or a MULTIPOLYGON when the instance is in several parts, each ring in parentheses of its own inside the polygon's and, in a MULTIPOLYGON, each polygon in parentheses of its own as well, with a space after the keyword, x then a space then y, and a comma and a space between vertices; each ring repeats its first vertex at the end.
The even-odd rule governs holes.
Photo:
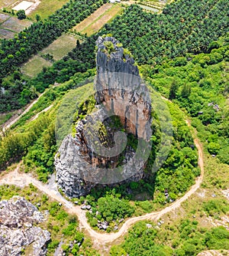
POLYGON ((144 67, 160 93, 187 110, 208 152, 229 164, 228 38, 210 44, 208 54, 176 57, 144 67))

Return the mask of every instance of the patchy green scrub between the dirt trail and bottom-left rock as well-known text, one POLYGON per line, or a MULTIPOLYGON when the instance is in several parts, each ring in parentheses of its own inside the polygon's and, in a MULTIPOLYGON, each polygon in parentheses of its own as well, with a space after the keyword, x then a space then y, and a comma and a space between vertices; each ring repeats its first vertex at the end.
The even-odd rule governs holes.
MULTIPOLYGON (((34 204, 38 211, 46 213, 45 218, 47 220, 41 222, 38 226, 47 229, 51 234, 51 240, 47 245, 47 256, 53 255, 61 241, 66 255, 98 255, 97 251, 92 248, 92 242, 79 231, 79 222, 76 215, 67 213, 59 202, 51 200, 32 184, 23 189, 15 185, 0 185, 0 201, 11 199, 13 195, 24 197, 34 204), (70 244, 73 244, 73 248, 70 247, 70 244)), ((25 248, 25 255, 27 255, 26 250, 25 248)))

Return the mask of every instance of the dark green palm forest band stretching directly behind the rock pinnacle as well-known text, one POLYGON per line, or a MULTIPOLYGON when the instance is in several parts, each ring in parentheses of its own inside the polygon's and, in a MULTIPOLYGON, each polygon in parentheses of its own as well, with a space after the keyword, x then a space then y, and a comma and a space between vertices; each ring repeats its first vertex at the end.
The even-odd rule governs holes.
POLYGON ((27 80, 18 72, 3 80, 5 104, 0 104, 0 111, 24 106, 37 97, 37 92, 44 91, 55 81, 63 83, 76 72, 95 67, 95 40, 98 35, 112 34, 132 52, 138 64, 154 66, 167 58, 207 53, 211 41, 227 31, 227 21, 225 0, 173 2, 160 15, 131 5, 122 15, 106 24, 102 31, 86 38, 63 60, 56 61, 53 67, 44 68, 33 80, 27 80))

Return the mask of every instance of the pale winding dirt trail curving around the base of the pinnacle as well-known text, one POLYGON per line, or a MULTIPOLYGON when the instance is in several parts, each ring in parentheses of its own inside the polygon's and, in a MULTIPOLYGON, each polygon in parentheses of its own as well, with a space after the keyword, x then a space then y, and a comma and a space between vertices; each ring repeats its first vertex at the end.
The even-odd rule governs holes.
MULTIPOLYGON (((188 120, 186 121, 188 125, 190 126, 188 120)), ((164 208, 163 210, 159 212, 150 212, 146 215, 142 215, 139 217, 129 218, 126 222, 121 226, 120 230, 117 233, 100 233, 95 230, 93 230, 89 223, 86 220, 85 217, 85 211, 83 211, 80 206, 73 205, 72 202, 67 201, 63 198, 62 195, 57 191, 56 186, 50 186, 50 185, 44 185, 42 182, 37 181, 37 179, 34 179, 30 174, 25 174, 18 172, 20 169, 20 164, 13 172, 9 172, 5 176, 2 176, 0 178, 0 185, 8 184, 8 185, 18 185, 21 187, 24 187, 25 185, 29 185, 32 183, 34 186, 37 187, 37 189, 40 189, 40 191, 46 193, 49 195, 52 199, 55 199, 58 202, 63 203, 66 207, 66 211, 71 214, 76 214, 79 218, 79 228, 84 228, 85 231, 89 233, 89 235, 92 238, 92 241, 94 242, 95 247, 101 247, 104 246, 106 243, 112 242, 118 238, 120 238, 122 235, 126 234, 128 229, 133 225, 135 222, 142 221, 142 220, 158 220, 163 215, 165 215, 168 212, 171 212, 178 208, 182 202, 185 202, 189 198, 190 195, 195 193, 195 191, 199 188, 199 186, 202 183, 203 176, 204 176, 204 162, 203 162, 203 156, 202 156, 202 146, 199 143, 198 139, 194 139, 195 146, 198 149, 198 166, 201 169, 201 175, 196 179, 195 184, 192 185, 191 189, 189 189, 188 192, 185 193, 185 195, 182 196, 182 198, 176 200, 173 202, 173 204, 169 205, 168 207, 164 208)))

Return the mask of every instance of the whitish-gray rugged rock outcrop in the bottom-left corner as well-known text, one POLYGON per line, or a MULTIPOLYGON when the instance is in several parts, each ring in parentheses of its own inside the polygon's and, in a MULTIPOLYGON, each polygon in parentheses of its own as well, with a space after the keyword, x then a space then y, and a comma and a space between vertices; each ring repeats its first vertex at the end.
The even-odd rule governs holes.
POLYGON ((33 226, 43 222, 37 208, 20 196, 0 202, 0 255, 21 255, 21 249, 33 245, 33 255, 46 255, 50 233, 33 226))

